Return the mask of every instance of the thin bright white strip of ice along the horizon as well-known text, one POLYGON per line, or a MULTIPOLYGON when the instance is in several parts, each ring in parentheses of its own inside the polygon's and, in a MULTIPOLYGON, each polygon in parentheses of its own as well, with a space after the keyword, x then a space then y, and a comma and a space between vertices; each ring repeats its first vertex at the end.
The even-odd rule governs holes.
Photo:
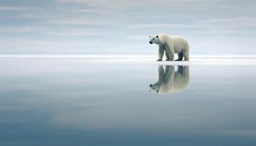
POLYGON ((255 66, 256 55, 191 55, 190 61, 156 61, 157 55, 0 55, 1 59, 50 59, 115 64, 242 65, 255 66))

